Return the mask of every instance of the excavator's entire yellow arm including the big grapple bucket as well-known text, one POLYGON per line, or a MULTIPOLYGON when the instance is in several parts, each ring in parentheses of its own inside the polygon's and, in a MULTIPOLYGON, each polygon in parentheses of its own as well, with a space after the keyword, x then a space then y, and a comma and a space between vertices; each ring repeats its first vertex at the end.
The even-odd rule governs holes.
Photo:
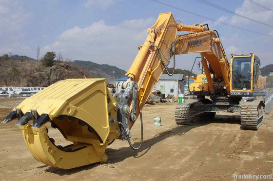
POLYGON ((196 52, 202 55, 211 94, 214 85, 229 91, 229 65, 215 31, 177 23, 172 13, 163 13, 149 28, 126 73, 128 80, 118 82, 116 92, 107 89, 105 79, 61 80, 22 101, 3 123, 17 119, 32 155, 47 165, 68 169, 105 162, 107 145, 115 139, 130 143, 130 129, 171 58, 196 52), (192 33, 177 36, 177 31, 192 33), (50 125, 72 144, 56 145, 47 134, 50 125))

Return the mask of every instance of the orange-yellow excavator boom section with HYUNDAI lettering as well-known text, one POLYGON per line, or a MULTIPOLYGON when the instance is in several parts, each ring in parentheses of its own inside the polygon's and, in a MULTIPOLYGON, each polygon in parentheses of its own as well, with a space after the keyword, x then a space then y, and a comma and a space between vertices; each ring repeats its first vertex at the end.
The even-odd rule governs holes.
POLYGON ((214 86, 225 86, 227 93, 229 93, 229 62, 221 40, 215 32, 214 30, 206 30, 178 36, 176 54, 200 53, 210 93, 214 94, 214 86), (215 75, 214 80, 211 77, 212 72, 210 69, 215 75))

